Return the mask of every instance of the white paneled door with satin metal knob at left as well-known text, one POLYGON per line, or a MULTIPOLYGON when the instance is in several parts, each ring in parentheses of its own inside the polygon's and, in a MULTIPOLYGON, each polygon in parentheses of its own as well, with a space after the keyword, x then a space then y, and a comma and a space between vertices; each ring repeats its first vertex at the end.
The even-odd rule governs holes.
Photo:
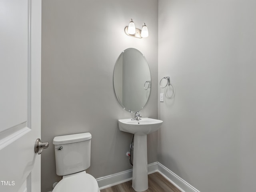
POLYGON ((0 192, 40 192, 41 0, 0 0, 0 192))

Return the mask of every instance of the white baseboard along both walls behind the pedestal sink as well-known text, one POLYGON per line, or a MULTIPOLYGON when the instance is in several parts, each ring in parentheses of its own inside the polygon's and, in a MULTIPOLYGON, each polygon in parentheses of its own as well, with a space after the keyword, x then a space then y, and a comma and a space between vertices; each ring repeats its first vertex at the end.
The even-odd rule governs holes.
MULTIPOLYGON (((159 162, 148 164, 148 174, 159 172, 182 192, 200 192, 159 162)), ((96 179, 100 190, 132 180, 132 169, 96 179)))

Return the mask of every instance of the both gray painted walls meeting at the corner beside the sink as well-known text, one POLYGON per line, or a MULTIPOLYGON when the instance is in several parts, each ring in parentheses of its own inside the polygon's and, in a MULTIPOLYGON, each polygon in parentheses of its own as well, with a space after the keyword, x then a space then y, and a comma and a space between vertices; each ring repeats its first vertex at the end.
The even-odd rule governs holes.
POLYGON ((91 132, 87 172, 96 178, 131 168, 125 152, 132 135, 120 132, 117 120, 132 114, 118 104, 112 82, 114 64, 129 47, 145 54, 151 71, 142 115, 164 120, 148 135, 148 163, 160 161, 202 192, 254 191, 254 18, 252 0, 44 0, 42 140, 51 146, 41 155, 42 192, 61 179, 54 136, 91 132), (148 38, 124 34, 130 18, 137 28, 146 22, 148 38), (164 76, 174 97, 158 86, 164 76))

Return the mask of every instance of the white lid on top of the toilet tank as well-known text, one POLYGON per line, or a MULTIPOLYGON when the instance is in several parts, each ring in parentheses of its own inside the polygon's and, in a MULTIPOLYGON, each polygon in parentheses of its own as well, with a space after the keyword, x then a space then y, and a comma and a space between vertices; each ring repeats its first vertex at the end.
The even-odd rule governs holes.
POLYGON ((90 133, 62 135, 62 136, 54 137, 53 144, 60 145, 60 144, 75 143, 75 142, 90 140, 91 138, 92 138, 92 135, 90 133))

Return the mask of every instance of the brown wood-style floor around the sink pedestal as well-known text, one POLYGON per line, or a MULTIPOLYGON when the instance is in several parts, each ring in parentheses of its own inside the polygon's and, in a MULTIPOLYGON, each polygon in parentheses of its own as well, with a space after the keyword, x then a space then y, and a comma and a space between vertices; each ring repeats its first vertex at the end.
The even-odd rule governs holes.
MULTIPOLYGON (((128 181, 102 189, 100 192, 135 192, 135 190, 132 188, 132 181, 128 181)), ((148 175, 148 190, 145 192, 180 192, 180 190, 166 180, 160 173, 155 172, 148 175)))

